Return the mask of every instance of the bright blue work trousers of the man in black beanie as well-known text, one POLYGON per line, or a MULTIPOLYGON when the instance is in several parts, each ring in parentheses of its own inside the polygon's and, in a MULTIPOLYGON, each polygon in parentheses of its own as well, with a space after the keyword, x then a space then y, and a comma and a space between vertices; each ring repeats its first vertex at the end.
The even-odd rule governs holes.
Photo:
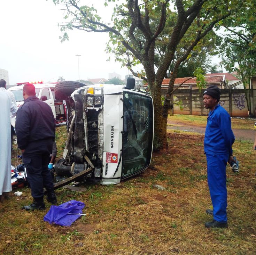
POLYGON ((214 220, 227 222, 226 166, 228 154, 206 155, 207 180, 213 206, 214 220))

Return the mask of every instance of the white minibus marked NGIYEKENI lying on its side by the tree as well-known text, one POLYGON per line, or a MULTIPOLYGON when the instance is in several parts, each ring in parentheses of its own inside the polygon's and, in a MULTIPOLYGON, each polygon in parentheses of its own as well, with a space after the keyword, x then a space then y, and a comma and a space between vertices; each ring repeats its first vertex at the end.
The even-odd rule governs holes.
POLYGON ((154 109, 150 94, 126 86, 56 84, 56 97, 66 100, 68 138, 58 175, 116 184, 147 169, 153 148, 154 109), (81 175, 82 176, 82 175, 81 175))

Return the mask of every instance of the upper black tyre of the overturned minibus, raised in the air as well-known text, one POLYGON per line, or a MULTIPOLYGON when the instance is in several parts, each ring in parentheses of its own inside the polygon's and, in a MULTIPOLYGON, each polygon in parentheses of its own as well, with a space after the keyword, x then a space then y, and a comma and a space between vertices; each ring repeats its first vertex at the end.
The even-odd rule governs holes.
POLYGON ((62 81, 55 85, 54 93, 57 98, 67 100, 67 98, 78 88, 85 84, 76 81, 62 81))

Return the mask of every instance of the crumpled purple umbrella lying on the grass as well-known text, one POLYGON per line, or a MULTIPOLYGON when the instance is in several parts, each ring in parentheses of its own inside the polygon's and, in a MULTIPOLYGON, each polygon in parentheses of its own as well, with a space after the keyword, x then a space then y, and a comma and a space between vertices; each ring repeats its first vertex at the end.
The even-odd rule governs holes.
POLYGON ((85 204, 80 201, 70 200, 61 205, 52 205, 48 213, 44 216, 44 221, 50 224, 56 224, 61 226, 70 226, 76 221, 82 214, 82 209, 85 204))

